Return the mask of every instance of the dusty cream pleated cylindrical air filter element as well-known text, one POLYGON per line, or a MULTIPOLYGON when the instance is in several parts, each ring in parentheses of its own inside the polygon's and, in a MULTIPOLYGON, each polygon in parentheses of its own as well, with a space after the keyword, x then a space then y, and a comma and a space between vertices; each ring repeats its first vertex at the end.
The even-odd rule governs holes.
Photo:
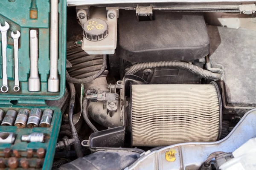
POLYGON ((215 82, 209 85, 132 85, 133 146, 214 142, 222 110, 215 82))

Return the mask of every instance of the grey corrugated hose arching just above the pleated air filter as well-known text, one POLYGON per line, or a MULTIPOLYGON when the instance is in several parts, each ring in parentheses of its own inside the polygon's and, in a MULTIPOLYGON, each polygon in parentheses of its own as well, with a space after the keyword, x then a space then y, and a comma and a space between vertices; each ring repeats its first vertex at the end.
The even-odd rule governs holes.
POLYGON ((163 62, 137 63, 137 64, 132 65, 128 69, 128 71, 126 71, 125 75, 135 74, 139 71, 149 69, 149 68, 162 68, 162 67, 178 68, 181 70, 187 70, 187 71, 190 71, 190 72, 192 72, 200 77, 206 78, 206 79, 213 79, 213 80, 221 79, 221 74, 212 73, 211 71, 204 70, 203 68, 198 67, 197 65, 193 65, 189 62, 184 62, 184 61, 163 61, 163 62))

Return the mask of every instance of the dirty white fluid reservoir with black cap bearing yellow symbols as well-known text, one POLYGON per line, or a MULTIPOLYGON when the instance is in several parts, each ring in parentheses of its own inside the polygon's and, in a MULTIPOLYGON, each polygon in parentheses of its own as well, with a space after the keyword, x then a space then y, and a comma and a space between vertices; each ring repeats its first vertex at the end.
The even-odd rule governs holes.
POLYGON ((110 9, 105 18, 87 20, 83 9, 77 12, 77 17, 83 27, 82 49, 89 55, 114 54, 117 39, 117 10, 110 9))

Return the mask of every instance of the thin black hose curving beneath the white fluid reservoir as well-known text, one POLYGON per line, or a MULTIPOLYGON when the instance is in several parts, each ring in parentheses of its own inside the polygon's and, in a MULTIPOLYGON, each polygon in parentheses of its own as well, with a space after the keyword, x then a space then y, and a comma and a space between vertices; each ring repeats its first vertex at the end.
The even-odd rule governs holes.
POLYGON ((73 83, 78 83, 78 84, 88 83, 88 82, 95 80, 100 75, 102 75, 102 73, 104 73, 106 67, 107 67, 107 55, 103 55, 102 68, 98 71, 98 73, 96 73, 90 77, 83 78, 83 79, 76 79, 76 78, 70 77, 70 75, 66 71, 66 80, 68 82, 73 82, 73 83))

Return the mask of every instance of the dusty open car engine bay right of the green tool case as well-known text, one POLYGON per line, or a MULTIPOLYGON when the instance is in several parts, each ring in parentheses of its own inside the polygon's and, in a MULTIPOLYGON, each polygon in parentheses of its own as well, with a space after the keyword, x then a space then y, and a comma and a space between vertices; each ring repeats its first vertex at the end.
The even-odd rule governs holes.
POLYGON ((255 3, 67 4, 53 167, 228 170, 256 137, 255 3))

